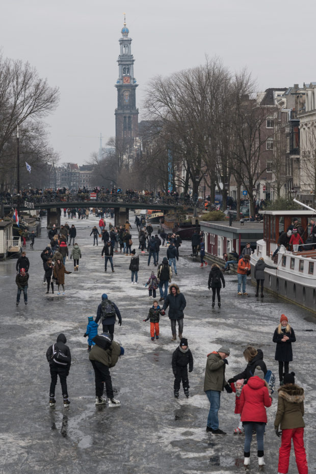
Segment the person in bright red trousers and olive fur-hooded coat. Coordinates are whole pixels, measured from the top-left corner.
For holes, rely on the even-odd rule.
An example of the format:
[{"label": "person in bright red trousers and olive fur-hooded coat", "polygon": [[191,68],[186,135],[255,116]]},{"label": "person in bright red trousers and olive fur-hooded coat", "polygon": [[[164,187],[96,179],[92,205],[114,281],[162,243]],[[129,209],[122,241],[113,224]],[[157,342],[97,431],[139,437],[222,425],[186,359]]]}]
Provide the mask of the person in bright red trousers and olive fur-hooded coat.
[{"label": "person in bright red trousers and olive fur-hooded coat", "polygon": [[[308,473],[304,448],[304,389],[296,385],[294,376],[294,372],[284,374],[284,385],[278,389],[278,408],[274,420],[276,435],[278,437],[282,435],[278,474],[287,474],[288,472],[292,439],[299,474]],[[282,431],[279,431],[279,425]]]}]

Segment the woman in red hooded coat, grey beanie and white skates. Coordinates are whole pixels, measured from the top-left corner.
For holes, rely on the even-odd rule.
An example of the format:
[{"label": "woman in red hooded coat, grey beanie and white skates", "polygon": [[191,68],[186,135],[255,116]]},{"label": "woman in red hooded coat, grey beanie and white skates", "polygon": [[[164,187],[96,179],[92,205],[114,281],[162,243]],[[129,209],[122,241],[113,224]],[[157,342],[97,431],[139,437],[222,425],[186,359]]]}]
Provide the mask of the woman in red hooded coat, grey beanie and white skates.
[{"label": "woman in red hooded coat, grey beanie and white skates", "polygon": [[244,464],[250,464],[250,444],[252,431],[256,431],[258,464],[263,466],[264,461],[264,434],[267,424],[265,407],[270,407],[272,398],[264,380],[264,373],[259,365],[255,368],[254,376],[250,377],[242,389],[240,397],[241,420],[245,430]]}]

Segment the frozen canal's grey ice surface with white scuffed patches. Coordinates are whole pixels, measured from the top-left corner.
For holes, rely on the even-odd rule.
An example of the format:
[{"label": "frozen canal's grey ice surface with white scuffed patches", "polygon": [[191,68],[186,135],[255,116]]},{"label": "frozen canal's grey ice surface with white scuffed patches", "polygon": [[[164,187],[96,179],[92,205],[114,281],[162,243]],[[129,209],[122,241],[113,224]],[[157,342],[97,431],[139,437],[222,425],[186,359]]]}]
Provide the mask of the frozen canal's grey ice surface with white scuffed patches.
[{"label": "frozen canal's grey ice surface with white scuffed patches", "polygon": [[[109,220],[106,219],[107,225]],[[62,218],[62,223],[66,222]],[[134,214],[133,248],[138,248]],[[69,221],[68,221],[69,223]],[[122,474],[241,472],[243,435],[233,435],[238,426],[234,414],[234,394],[222,395],[220,428],[227,436],[205,432],[209,404],[203,392],[206,356],[222,344],[230,347],[227,378],[246,365],[243,350],[247,345],[260,347],[265,362],[277,374],[272,342],[281,313],[287,315],[297,342],[293,344],[294,361],[290,370],[305,389],[305,446],[309,472],[316,472],[316,416],[313,390],[315,321],[311,313],[268,293],[264,299],[254,297],[248,282],[249,297],[237,296],[236,276],[226,277],[222,289],[222,307],[210,307],[207,289],[209,267],[200,269],[192,262],[190,243],[180,247],[178,275],[173,282],[187,299],[183,336],[189,339],[194,357],[190,374],[191,397],[173,397],[172,352],[168,317],[161,317],[159,340],[150,339],[149,322],[143,323],[150,307],[144,283],[153,264],[147,266],[147,254],[140,254],[139,284],[130,284],[130,258],[114,254],[115,273],[104,273],[102,245],[93,247],[89,234],[98,219],[74,220],[76,242],[83,257],[79,273],[65,276],[66,296],[48,299],[43,285],[41,251],[48,244],[47,231],[35,240],[34,250],[27,247],[30,258],[29,304],[22,298],[16,307],[16,260],[0,262],[1,282],[1,464],[5,474],[75,474],[117,472]],[[46,224],[46,221],[43,222]],[[155,228],[156,229],[156,228]],[[160,252],[160,261],[166,249]],[[66,269],[73,270],[72,260]],[[125,355],[111,369],[115,398],[119,408],[95,407],[94,374],[88,360],[87,339],[83,337],[87,317],[96,315],[101,294],[107,293],[119,307],[122,326],[115,326],[115,338],[125,348]],[[159,295],[158,295],[159,296]],[[69,409],[62,406],[61,387],[56,387],[56,408],[48,406],[50,375],[45,353],[57,335],[63,332],[72,354],[67,379]],[[99,333],[101,328],[99,328]],[[277,385],[278,386],[278,385]],[[276,474],[279,438],[273,429],[277,395],[267,409],[264,472]],[[256,444],[252,442],[250,472],[257,472]],[[297,472],[291,454],[289,473]]]}]

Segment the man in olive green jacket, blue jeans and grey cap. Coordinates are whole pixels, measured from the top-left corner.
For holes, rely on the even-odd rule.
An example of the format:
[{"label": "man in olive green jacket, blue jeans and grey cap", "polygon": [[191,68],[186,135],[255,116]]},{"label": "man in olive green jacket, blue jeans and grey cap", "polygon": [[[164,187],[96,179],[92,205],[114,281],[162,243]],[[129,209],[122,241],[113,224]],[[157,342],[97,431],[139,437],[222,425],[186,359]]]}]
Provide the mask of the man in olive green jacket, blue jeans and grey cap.
[{"label": "man in olive green jacket, blue jeans and grey cap", "polygon": [[221,391],[225,388],[228,393],[232,393],[230,385],[225,380],[225,366],[228,365],[227,357],[229,354],[229,348],[222,346],[218,351],[207,355],[204,392],[209,400],[210,407],[206,431],[214,434],[226,434],[219,429],[218,412],[221,406]]}]

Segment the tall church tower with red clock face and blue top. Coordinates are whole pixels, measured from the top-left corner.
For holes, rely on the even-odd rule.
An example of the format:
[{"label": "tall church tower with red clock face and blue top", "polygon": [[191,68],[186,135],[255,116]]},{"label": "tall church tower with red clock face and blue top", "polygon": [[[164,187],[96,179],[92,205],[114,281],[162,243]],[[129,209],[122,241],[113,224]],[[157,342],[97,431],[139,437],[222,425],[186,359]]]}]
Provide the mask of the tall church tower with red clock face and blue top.
[{"label": "tall church tower with red clock face and blue top", "polygon": [[125,14],[122,37],[119,39],[120,55],[118,57],[119,76],[116,81],[117,109],[115,110],[116,141],[126,147],[134,144],[138,137],[138,109],[136,108],[136,79],[134,77],[134,58],[131,54],[131,38],[128,38]]}]

